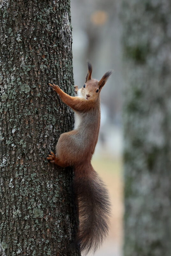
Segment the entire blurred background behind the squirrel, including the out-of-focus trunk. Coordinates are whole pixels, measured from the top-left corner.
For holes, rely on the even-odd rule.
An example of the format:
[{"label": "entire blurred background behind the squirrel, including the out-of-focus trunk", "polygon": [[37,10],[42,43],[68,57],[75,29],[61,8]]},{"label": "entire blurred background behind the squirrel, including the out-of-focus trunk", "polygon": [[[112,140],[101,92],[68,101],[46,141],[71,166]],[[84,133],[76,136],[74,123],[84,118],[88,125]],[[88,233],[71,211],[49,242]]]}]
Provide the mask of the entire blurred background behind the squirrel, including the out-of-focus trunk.
[{"label": "entire blurred background behind the squirrel, including the out-of-focus trunk", "polygon": [[93,157],[113,212],[96,256],[170,255],[170,13],[170,0],[71,1],[75,85],[85,82],[87,59],[93,78],[114,70]]}]

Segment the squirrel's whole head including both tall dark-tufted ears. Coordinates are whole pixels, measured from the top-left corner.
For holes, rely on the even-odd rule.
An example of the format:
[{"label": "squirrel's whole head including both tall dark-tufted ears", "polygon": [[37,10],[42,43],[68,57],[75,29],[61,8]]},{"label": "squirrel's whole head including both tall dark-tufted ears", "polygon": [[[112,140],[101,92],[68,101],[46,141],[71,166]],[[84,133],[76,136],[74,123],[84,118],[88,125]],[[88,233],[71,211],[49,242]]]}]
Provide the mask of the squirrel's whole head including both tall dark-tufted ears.
[{"label": "squirrel's whole head including both tall dark-tufted ears", "polygon": [[96,100],[99,97],[102,87],[108,80],[108,77],[112,74],[112,70],[106,72],[100,81],[97,79],[92,79],[92,65],[87,62],[88,72],[85,78],[85,84],[81,89],[78,90],[78,96],[83,97],[86,100]]}]

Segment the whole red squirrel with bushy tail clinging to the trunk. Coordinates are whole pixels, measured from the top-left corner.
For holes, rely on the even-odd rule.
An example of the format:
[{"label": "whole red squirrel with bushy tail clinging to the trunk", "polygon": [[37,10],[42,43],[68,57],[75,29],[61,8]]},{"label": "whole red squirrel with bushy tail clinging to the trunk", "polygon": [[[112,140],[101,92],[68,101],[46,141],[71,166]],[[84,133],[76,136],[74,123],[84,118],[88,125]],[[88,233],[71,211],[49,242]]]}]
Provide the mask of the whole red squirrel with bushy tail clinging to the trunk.
[{"label": "whole red squirrel with bushy tail clinging to the trunk", "polygon": [[71,97],[58,85],[50,84],[62,101],[80,118],[78,128],[61,134],[56,145],[56,155],[51,151],[47,159],[61,167],[74,169],[73,187],[78,200],[79,228],[75,245],[80,251],[94,252],[108,234],[110,202],[108,191],[91,165],[100,128],[100,91],[112,71],[100,81],[92,79],[92,65],[88,64],[85,84],[74,86],[76,97]]}]

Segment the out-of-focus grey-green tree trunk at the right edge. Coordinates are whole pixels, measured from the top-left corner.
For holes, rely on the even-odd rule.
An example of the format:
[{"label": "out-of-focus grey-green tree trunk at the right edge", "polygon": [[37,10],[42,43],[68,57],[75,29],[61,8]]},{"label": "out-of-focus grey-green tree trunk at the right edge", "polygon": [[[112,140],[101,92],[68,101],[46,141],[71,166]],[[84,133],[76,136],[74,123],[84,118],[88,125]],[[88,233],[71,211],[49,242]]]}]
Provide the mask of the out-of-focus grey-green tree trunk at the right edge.
[{"label": "out-of-focus grey-green tree trunk at the right edge", "polygon": [[123,1],[125,256],[171,252],[171,2]]}]

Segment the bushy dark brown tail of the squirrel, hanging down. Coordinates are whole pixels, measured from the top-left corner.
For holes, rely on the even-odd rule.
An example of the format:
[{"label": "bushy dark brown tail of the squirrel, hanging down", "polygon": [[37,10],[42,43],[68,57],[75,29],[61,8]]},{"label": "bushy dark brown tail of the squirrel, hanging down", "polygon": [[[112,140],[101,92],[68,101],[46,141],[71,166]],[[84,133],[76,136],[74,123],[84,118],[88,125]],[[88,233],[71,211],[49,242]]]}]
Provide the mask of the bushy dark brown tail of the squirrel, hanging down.
[{"label": "bushy dark brown tail of the squirrel, hanging down", "polygon": [[108,235],[108,191],[91,164],[75,169],[74,191],[79,211],[79,228],[75,243],[81,252],[95,252]]}]

